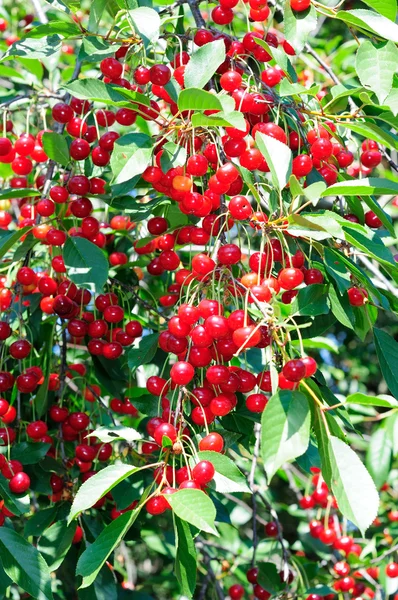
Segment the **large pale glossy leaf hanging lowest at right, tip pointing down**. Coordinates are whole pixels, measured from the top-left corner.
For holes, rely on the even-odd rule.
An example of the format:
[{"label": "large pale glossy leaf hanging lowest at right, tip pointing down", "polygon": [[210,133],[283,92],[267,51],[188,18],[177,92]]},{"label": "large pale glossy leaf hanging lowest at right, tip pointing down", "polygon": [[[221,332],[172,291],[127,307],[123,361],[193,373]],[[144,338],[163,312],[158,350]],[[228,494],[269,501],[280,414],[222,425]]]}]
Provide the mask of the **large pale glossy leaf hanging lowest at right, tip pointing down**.
[{"label": "large pale glossy leaf hanging lowest at right, tip pointing down", "polygon": [[375,484],[354,450],[333,435],[329,438],[329,455],[332,492],[339,510],[363,533],[377,516],[379,495]]}]

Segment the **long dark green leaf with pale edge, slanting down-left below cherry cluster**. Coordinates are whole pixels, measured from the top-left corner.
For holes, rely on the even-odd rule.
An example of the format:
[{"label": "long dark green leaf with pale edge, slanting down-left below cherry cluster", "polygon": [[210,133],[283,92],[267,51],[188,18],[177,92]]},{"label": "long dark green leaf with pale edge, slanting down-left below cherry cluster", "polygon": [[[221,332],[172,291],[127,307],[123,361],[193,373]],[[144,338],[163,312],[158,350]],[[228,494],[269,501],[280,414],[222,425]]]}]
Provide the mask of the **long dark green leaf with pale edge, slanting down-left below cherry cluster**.
[{"label": "long dark green leaf with pale edge, slanting down-left below cherry cluster", "polygon": [[81,554],[76,574],[83,577],[82,588],[93,583],[110,553],[120,544],[140,513],[140,507],[127,511],[107,525],[90,546]]}]

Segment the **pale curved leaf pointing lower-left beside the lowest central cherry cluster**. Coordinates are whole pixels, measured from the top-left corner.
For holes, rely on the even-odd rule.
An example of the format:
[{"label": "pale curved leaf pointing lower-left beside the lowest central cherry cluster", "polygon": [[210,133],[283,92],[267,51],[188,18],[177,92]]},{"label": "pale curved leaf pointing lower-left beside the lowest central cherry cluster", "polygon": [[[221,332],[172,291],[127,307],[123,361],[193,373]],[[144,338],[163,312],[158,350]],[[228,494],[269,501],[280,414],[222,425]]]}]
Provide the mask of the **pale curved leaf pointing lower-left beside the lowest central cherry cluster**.
[{"label": "pale curved leaf pointing lower-left beside the lowest central cherry cluster", "polygon": [[70,509],[68,523],[84,510],[95,504],[102,496],[105,496],[115,485],[139,471],[138,467],[132,467],[124,463],[115,463],[99,471],[90,477],[79,488]]}]

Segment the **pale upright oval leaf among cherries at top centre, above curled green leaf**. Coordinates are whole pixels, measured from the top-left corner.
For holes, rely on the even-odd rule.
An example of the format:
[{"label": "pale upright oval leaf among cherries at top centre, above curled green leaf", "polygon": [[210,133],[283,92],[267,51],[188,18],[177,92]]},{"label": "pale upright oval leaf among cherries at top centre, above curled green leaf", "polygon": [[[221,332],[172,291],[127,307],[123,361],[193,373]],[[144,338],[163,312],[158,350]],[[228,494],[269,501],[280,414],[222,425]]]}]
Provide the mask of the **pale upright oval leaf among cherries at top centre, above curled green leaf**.
[{"label": "pale upright oval leaf among cherries at top centre, above curled green leaf", "polygon": [[224,60],[225,44],[223,40],[215,40],[211,44],[201,46],[192,54],[191,60],[185,67],[185,87],[202,89]]}]

